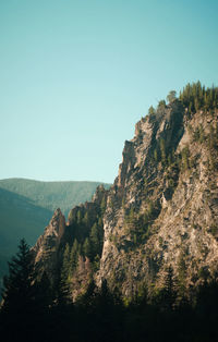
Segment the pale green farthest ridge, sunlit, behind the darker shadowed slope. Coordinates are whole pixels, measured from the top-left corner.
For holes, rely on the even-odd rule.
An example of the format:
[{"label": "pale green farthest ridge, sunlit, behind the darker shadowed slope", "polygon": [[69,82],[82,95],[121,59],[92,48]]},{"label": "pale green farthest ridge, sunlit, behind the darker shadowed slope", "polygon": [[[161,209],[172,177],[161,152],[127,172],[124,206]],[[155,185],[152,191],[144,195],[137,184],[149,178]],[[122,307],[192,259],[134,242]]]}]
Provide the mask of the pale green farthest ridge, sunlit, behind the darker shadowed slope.
[{"label": "pale green farthest ridge, sunlit, behind the darker shadowed slope", "polygon": [[[65,216],[72,207],[89,200],[100,182],[40,182],[25,179],[0,180],[4,188],[31,199],[36,206],[56,210],[61,208]],[[110,184],[105,184],[110,187]]]}]

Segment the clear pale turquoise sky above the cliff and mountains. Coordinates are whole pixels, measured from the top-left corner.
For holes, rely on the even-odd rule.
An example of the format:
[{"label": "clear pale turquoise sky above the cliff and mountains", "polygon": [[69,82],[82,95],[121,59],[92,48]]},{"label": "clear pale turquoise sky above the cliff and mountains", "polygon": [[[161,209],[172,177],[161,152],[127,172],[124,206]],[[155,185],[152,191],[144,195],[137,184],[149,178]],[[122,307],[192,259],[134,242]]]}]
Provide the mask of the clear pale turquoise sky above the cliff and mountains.
[{"label": "clear pale turquoise sky above the cliff and mountains", "polygon": [[113,182],[171,89],[218,84],[217,0],[0,0],[0,179]]}]

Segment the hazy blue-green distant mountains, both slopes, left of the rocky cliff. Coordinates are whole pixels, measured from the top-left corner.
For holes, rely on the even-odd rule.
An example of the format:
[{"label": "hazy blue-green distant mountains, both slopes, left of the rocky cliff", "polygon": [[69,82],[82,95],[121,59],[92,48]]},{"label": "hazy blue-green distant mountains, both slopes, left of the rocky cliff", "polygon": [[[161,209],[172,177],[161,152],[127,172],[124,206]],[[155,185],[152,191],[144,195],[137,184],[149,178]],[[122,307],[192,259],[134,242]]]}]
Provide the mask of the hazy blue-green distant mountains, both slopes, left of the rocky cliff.
[{"label": "hazy blue-green distant mountains, both slopes, left of the rocky cliff", "polygon": [[[34,245],[48,224],[52,212],[90,199],[99,182],[39,182],[25,179],[0,181],[0,279],[7,273],[7,261],[25,237]],[[105,184],[109,187],[109,184]]]}]

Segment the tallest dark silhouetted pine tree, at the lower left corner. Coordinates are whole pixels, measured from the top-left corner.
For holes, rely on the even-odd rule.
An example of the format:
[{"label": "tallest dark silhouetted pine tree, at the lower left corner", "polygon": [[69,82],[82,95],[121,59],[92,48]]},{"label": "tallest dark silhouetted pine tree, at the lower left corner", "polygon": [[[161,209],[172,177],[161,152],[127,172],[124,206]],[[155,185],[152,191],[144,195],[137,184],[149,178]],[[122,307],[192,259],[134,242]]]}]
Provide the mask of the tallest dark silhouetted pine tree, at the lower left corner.
[{"label": "tallest dark silhouetted pine tree, at the lower left corner", "polygon": [[21,240],[17,254],[9,262],[9,276],[3,279],[1,306],[1,337],[3,341],[19,341],[24,332],[27,340],[36,331],[40,316],[37,301],[36,274],[33,254],[25,240]]}]

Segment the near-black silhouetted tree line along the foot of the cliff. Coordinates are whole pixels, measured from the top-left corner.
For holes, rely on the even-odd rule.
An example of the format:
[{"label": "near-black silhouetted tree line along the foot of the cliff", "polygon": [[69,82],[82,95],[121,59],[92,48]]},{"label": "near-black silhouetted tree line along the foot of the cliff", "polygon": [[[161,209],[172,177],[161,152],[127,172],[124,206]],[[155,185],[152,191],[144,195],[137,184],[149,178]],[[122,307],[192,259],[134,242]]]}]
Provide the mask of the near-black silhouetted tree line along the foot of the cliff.
[{"label": "near-black silhouetted tree line along the foot of the cliff", "polygon": [[2,341],[217,341],[216,281],[205,279],[192,301],[180,294],[179,304],[171,268],[153,301],[145,288],[126,304],[119,290],[110,291],[106,280],[97,288],[90,280],[85,293],[69,301],[63,289],[53,291],[46,274],[38,280],[22,240],[4,278]]}]

